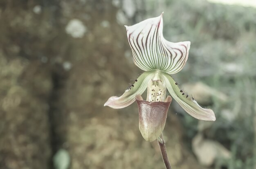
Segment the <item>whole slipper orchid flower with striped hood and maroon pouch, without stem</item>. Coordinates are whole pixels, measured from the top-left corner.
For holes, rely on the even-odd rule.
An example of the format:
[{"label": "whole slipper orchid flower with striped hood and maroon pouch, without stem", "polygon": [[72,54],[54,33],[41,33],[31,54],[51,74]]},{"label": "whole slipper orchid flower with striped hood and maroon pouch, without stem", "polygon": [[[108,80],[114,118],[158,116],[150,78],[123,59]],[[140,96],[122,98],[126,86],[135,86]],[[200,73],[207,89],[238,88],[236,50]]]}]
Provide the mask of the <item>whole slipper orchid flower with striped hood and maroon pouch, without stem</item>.
[{"label": "whole slipper orchid flower with striped hood and maroon pouch, without stem", "polygon": [[[162,13],[163,14],[163,13]],[[182,91],[171,77],[180,72],[189,56],[190,42],[169,42],[163,37],[162,14],[133,26],[125,26],[133,61],[145,70],[120,97],[110,97],[104,106],[125,108],[135,100],[139,109],[139,130],[147,141],[157,139],[164,129],[171,97],[166,88],[191,116],[204,121],[215,121],[213,110],[200,107],[193,97]],[[147,99],[141,94],[147,88]]]}]

